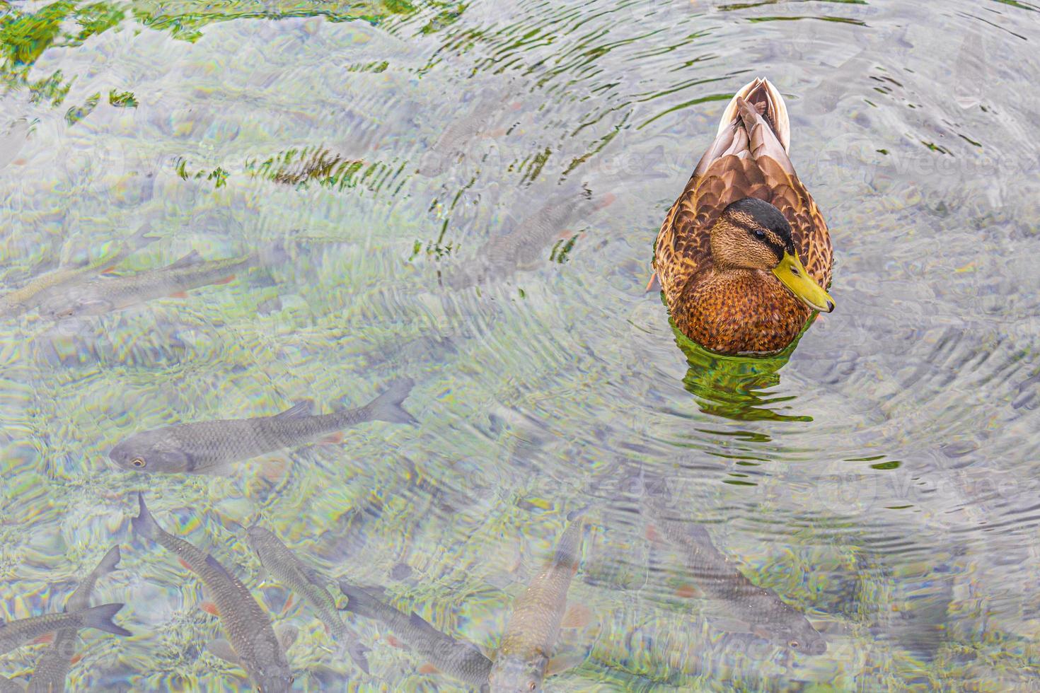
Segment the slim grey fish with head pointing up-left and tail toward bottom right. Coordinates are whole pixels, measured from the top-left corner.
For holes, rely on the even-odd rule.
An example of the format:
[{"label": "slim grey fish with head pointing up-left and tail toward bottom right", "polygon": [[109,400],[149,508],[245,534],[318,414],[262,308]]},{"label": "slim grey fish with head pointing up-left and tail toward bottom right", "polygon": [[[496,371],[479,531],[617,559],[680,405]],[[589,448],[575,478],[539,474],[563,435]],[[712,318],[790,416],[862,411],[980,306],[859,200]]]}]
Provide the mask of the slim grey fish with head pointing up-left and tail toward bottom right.
[{"label": "slim grey fish with head pointing up-left and tail toward bottom right", "polygon": [[336,601],[326,588],[329,581],[305,565],[270,530],[253,525],[245,530],[245,534],[261,565],[314,608],[317,617],[339,645],[339,651],[346,651],[354,663],[368,673],[368,659],[365,657],[368,648],[361,644],[358,634],[340,616]]}]

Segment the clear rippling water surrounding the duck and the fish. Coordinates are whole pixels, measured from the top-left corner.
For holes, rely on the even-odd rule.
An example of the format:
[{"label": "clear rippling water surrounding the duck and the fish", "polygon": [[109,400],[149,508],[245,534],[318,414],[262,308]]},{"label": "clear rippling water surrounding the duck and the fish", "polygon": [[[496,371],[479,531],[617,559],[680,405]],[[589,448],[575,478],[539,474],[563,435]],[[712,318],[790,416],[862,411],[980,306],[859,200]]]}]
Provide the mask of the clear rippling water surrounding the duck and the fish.
[{"label": "clear rippling water surrounding the duck and the fish", "polygon": [[[584,659],[547,690],[1036,686],[1038,9],[0,4],[3,293],[146,219],[161,239],[123,271],[288,248],[187,298],[0,321],[3,616],[60,610],[119,543],[95,602],[125,602],[136,635],[84,632],[70,688],[248,690],[204,651],[219,624],[197,579],[132,537],[146,490],[301,629],[300,690],[456,690],[360,618],[371,675],[335,658],[261,586],[238,525],[493,652],[589,505],[570,595],[592,621],[562,636]],[[680,348],[643,293],[662,215],[757,75],[787,100],[836,252],[837,311],[770,361]],[[138,430],[328,411],[397,376],[417,427],[228,478],[107,461]],[[639,464],[827,654],[707,616],[680,555],[646,539]],[[42,648],[0,673],[24,682]]]}]

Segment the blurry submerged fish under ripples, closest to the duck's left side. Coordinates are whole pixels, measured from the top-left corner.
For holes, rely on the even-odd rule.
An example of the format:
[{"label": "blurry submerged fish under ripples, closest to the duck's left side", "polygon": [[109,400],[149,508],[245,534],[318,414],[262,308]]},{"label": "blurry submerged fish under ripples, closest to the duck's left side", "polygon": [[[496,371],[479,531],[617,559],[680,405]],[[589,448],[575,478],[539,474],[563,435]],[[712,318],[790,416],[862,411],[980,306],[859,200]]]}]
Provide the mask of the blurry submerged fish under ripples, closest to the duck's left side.
[{"label": "blurry submerged fish under ripples, closest to the duck's left side", "polygon": [[[571,189],[550,197],[542,207],[527,215],[510,233],[495,236],[476,250],[470,266],[449,272],[445,284],[451,289],[465,289],[486,282],[508,278],[517,271],[538,269],[549,260],[546,248],[554,241],[568,237],[567,225],[583,220],[613,203],[613,194],[598,199],[588,192]],[[563,244],[557,259],[566,257],[568,244]],[[556,257],[556,252],[552,254]]]}]

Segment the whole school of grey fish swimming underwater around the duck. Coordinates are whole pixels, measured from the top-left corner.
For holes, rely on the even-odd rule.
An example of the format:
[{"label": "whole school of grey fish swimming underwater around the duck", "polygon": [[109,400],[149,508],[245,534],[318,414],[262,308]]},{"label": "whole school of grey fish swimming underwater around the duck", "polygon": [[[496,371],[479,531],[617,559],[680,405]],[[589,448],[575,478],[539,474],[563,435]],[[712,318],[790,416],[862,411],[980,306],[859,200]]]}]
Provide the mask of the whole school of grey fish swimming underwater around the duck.
[{"label": "whole school of grey fish swimming underwater around the duck", "polygon": [[[419,172],[423,176],[442,172],[491,124],[500,124],[505,113],[501,97],[494,92],[477,98],[470,112],[447,127],[433,143]],[[19,122],[11,130],[10,149],[15,154],[28,131],[26,122]],[[0,166],[12,156],[7,160],[0,157]],[[464,289],[535,269],[546,260],[562,261],[581,231],[582,221],[612,202],[613,195],[596,195],[583,185],[571,185],[521,218],[510,233],[493,236],[478,248],[473,266],[450,273],[445,284],[456,290]],[[0,296],[0,319],[31,320],[35,316],[48,322],[61,322],[127,311],[163,298],[185,299],[189,298],[187,292],[227,284],[238,275],[285,259],[284,247],[274,244],[217,260],[205,260],[198,250],[192,250],[155,269],[120,270],[125,260],[156,240],[151,223],[146,222],[109,252],[37,274]],[[279,310],[281,302],[276,298],[264,305]],[[141,475],[182,475],[185,479],[230,475],[239,464],[268,453],[338,443],[341,432],[354,426],[371,422],[418,425],[418,419],[404,406],[414,385],[412,378],[399,378],[387,383],[366,404],[355,408],[336,405],[328,414],[315,414],[312,401],[300,400],[280,414],[222,419],[214,412],[213,418],[139,430],[114,442],[108,458],[115,469]],[[242,412],[220,414],[242,416]],[[827,651],[826,639],[800,608],[749,580],[714,545],[705,528],[675,516],[672,510],[675,499],[665,480],[649,479],[646,490],[642,512],[652,528],[649,541],[654,545],[668,543],[681,556],[682,569],[705,596],[705,610],[713,607],[727,621],[738,622],[743,630],[778,647],[808,656]],[[160,494],[151,492],[150,497],[162,509],[163,516],[177,510]],[[295,646],[300,630],[281,614],[274,613],[260,593],[260,584],[246,584],[237,577],[248,575],[241,557],[225,548],[217,551],[218,558],[177,533],[167,532],[146,504],[145,490],[134,498],[135,512],[127,508],[128,524],[136,538],[133,551],[140,552],[134,556],[134,564],[141,558],[168,561],[168,554],[190,572],[186,580],[197,581],[205,596],[200,608],[218,620],[225,636],[205,643],[205,652],[242,672],[262,693],[293,690],[295,676],[289,650]],[[561,640],[571,586],[581,568],[583,535],[591,529],[584,513],[582,509],[568,516],[544,567],[525,588],[518,590],[508,614],[503,612],[504,629],[479,643],[467,640],[463,633],[435,628],[417,611],[423,608],[421,605],[394,606],[408,597],[394,595],[392,589],[385,587],[359,584],[352,577],[349,565],[334,566],[331,570],[329,566],[321,567],[308,555],[305,545],[293,548],[268,529],[275,526],[271,518],[252,517],[250,524],[237,527],[241,530],[238,540],[253,550],[254,558],[248,560],[255,560],[261,567],[263,584],[271,582],[302,601],[306,611],[297,618],[315,618],[323,627],[332,664],[350,672],[337,674],[337,686],[348,684],[358,675],[356,672],[363,676],[379,672],[385,651],[373,634],[385,631],[388,635],[384,640],[410,651],[418,672],[448,677],[479,691],[520,693],[543,690],[548,676],[581,662],[580,658],[569,660],[558,655],[563,649]],[[178,527],[183,525],[182,521],[181,516]],[[230,525],[235,523],[232,521]],[[27,684],[18,676],[0,676],[0,693],[66,690],[79,650],[88,649],[102,637],[86,637],[84,631],[120,637],[148,635],[131,633],[113,620],[123,604],[90,606],[97,584],[112,582],[108,576],[123,572],[120,564],[126,550],[125,544],[113,545],[100,558],[95,556],[96,566],[80,580],[62,611],[19,614],[19,618],[0,621],[0,654],[45,640],[49,643],[38,655]],[[391,571],[390,578],[396,580],[396,575],[412,572],[409,566],[404,567],[406,570]],[[338,586],[338,594],[330,591],[330,584]],[[132,620],[131,617],[127,622]],[[319,671],[328,673],[332,669],[323,667]]]}]

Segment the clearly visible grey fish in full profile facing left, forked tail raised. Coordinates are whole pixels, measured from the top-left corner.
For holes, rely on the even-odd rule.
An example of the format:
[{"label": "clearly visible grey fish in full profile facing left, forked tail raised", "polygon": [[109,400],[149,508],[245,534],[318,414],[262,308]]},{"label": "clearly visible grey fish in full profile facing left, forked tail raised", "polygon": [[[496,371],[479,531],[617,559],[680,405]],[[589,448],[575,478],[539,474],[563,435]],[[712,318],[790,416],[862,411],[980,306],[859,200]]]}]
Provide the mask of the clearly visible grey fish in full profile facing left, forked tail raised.
[{"label": "clearly visible grey fish in full profile facing left, forked tail raised", "polygon": [[297,402],[271,417],[200,421],[134,433],[108,453],[121,469],[154,474],[225,474],[229,465],[316,441],[367,421],[416,423],[401,406],[414,384],[395,380],[365,406],[333,414],[311,414],[313,403]]}]

